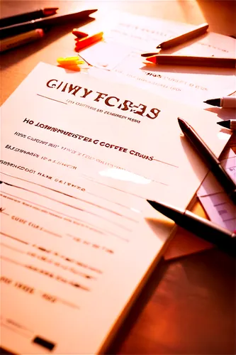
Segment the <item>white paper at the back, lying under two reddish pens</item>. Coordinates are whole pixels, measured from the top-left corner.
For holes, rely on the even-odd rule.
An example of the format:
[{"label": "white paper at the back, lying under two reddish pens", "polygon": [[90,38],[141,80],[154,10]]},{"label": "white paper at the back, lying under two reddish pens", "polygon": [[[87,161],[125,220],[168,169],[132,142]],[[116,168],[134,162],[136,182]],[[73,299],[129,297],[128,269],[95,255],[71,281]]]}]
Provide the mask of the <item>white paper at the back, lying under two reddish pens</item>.
[{"label": "white paper at the back, lying under two reddish pens", "polygon": [[[203,108],[209,107],[203,104],[206,99],[235,91],[235,69],[144,64],[142,53],[158,52],[159,43],[195,26],[130,13],[116,12],[114,16],[109,13],[107,17],[110,23],[104,31],[104,40],[82,50],[79,55],[91,65],[113,72],[116,80],[125,80],[164,97]],[[226,58],[235,58],[235,52],[234,38],[212,33],[210,29],[188,43],[162,50],[163,54]]]}]

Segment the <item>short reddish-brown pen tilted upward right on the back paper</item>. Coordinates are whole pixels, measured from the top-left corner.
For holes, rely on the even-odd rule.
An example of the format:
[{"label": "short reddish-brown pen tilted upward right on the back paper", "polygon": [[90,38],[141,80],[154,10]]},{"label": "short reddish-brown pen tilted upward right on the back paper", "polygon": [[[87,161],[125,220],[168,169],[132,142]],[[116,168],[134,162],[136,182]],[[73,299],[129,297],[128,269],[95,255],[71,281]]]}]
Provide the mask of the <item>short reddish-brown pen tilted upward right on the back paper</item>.
[{"label": "short reddish-brown pen tilted upward right on the back paper", "polygon": [[203,35],[208,30],[208,23],[202,23],[198,27],[194,28],[192,31],[184,33],[182,35],[177,35],[176,37],[170,38],[169,40],[165,40],[164,42],[157,45],[158,49],[167,49],[175,47],[176,45],[181,45],[185,43],[187,40],[191,40],[193,38],[198,37],[199,35]]}]

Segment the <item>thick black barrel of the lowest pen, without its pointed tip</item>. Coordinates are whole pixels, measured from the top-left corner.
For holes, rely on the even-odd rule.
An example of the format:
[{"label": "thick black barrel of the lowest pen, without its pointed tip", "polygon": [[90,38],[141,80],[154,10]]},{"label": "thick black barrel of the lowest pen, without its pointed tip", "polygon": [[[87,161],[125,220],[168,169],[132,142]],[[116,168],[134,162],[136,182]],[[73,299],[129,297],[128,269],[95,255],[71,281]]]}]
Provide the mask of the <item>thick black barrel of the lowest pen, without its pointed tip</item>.
[{"label": "thick black barrel of the lowest pen, without its pointed tip", "polygon": [[236,236],[227,229],[189,211],[186,211],[184,217],[180,218],[180,221],[176,221],[176,223],[202,239],[215,244],[215,246],[230,253],[230,255],[236,256]]}]

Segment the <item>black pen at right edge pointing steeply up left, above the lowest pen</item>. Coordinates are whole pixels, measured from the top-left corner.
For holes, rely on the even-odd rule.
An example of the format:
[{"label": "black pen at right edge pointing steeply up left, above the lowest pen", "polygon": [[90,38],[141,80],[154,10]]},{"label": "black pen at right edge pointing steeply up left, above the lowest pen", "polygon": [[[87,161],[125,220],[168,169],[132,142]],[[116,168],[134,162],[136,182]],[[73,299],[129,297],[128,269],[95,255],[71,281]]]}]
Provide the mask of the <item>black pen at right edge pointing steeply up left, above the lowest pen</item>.
[{"label": "black pen at right edge pointing steeply up left, above the lowest pen", "polygon": [[189,139],[191,144],[196,151],[198,151],[201,158],[205,161],[210,171],[213,173],[215,178],[220,182],[220,185],[224,188],[227,195],[230,197],[232,202],[236,204],[236,183],[230,178],[230,175],[227,174],[223,166],[220,164],[220,160],[210,151],[210,148],[203,142],[198,133],[194,131],[194,129],[187,124],[184,119],[178,117],[179,126],[184,133],[184,136]]}]

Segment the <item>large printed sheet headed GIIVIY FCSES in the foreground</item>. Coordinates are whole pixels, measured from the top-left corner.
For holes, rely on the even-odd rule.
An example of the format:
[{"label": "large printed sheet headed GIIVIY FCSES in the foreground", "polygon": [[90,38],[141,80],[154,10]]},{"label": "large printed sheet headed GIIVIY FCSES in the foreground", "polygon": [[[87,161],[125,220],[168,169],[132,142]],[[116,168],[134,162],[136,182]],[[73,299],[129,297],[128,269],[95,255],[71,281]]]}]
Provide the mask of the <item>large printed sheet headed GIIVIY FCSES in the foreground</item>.
[{"label": "large printed sheet headed GIIVIY FCSES in the foreground", "polygon": [[[215,116],[40,63],[1,107],[1,346],[96,354],[205,177],[186,119],[216,155]],[[158,222],[161,219],[161,222]]]}]

